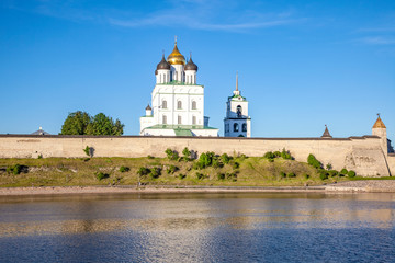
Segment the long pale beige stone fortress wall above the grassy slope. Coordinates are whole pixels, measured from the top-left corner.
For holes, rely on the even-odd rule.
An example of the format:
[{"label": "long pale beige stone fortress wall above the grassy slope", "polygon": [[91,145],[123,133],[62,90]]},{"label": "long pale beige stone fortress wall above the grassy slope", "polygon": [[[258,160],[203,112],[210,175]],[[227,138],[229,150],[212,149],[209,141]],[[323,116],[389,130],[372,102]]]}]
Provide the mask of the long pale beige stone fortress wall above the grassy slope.
[{"label": "long pale beige stone fortress wall above the grassy slope", "polygon": [[184,147],[198,153],[263,156],[267,151],[290,150],[297,161],[306,162],[313,153],[334,169],[354,170],[360,175],[387,176],[388,169],[381,150],[380,138],[217,138],[217,137],[87,137],[87,136],[0,136],[0,158],[86,157],[83,148],[94,148],[95,157],[165,157],[171,148]]}]

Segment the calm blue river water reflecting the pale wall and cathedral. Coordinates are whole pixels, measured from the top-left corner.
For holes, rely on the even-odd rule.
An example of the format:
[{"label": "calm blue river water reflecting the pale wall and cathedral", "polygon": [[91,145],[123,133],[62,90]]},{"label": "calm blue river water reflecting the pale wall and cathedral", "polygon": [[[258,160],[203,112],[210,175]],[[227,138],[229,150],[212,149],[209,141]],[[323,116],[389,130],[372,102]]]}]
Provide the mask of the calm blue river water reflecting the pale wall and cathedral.
[{"label": "calm blue river water reflecting the pale wall and cathedral", "polygon": [[0,197],[0,262],[395,262],[395,194]]}]

